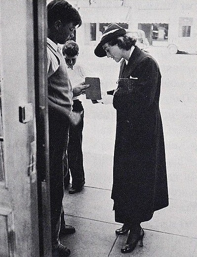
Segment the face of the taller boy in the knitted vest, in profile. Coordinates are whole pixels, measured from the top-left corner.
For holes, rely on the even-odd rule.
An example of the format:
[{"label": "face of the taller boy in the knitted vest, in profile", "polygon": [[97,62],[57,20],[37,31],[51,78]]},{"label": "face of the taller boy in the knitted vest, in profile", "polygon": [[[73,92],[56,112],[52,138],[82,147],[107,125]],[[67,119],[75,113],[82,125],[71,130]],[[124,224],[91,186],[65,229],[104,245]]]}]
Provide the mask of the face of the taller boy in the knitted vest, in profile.
[{"label": "face of the taller boy in the knitted vest, in profile", "polygon": [[76,28],[77,26],[74,26],[73,22],[67,24],[61,23],[57,28],[58,43],[65,44],[68,40],[72,39],[74,37],[74,31]]}]

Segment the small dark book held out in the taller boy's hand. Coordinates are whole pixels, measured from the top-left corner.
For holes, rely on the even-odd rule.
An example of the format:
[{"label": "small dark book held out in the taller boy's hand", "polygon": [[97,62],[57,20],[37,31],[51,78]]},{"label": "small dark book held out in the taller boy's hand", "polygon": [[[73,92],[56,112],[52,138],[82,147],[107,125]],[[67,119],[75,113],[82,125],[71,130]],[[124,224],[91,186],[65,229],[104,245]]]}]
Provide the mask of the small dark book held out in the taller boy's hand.
[{"label": "small dark book held out in the taller boy's hand", "polygon": [[86,77],[85,84],[90,87],[85,89],[86,99],[100,100],[101,98],[101,84],[99,78]]}]

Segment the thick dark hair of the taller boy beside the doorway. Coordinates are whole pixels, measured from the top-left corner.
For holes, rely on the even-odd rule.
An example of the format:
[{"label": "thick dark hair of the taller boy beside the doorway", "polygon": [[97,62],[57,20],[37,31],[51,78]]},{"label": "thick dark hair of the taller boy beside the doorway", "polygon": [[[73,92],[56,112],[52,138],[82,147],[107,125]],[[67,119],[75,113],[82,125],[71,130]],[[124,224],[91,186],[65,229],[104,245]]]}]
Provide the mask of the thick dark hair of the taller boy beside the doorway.
[{"label": "thick dark hair of the taller boy beside the doorway", "polygon": [[64,24],[73,22],[74,26],[81,25],[79,12],[65,0],[53,0],[48,3],[47,19],[48,27],[51,27],[57,20]]}]

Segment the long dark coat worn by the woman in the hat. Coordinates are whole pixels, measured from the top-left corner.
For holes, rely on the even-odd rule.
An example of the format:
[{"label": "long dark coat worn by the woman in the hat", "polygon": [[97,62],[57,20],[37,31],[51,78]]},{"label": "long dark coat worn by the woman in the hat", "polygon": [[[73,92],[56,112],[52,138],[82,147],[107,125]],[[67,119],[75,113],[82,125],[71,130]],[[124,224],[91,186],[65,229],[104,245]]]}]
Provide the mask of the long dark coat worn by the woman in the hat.
[{"label": "long dark coat worn by the woman in the hat", "polygon": [[147,221],[154,211],[168,206],[163,129],[159,112],[161,75],[155,59],[137,46],[114,94],[117,131],[114,154],[115,220]]}]

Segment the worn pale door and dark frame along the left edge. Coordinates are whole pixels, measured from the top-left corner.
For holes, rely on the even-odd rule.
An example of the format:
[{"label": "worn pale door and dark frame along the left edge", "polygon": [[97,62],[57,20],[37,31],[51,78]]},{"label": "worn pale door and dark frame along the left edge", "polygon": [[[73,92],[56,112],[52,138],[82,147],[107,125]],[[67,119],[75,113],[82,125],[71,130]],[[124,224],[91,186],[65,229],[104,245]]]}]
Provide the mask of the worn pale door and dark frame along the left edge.
[{"label": "worn pale door and dark frame along the left edge", "polygon": [[0,1],[1,257],[51,257],[45,42],[45,0]]}]

